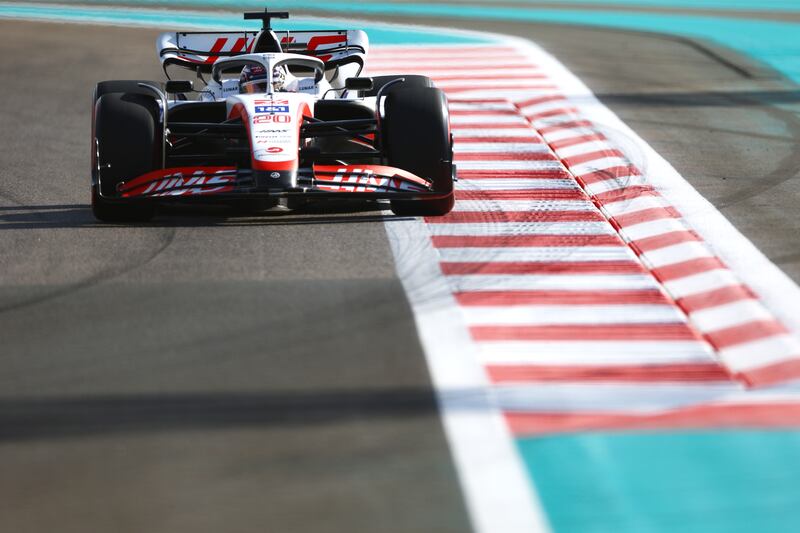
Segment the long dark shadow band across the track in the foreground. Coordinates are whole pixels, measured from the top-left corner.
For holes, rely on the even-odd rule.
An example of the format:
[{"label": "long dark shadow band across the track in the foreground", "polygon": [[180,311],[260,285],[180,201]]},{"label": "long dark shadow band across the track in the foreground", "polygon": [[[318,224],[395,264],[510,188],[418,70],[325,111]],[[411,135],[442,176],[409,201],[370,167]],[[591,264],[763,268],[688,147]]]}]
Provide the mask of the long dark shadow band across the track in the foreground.
[{"label": "long dark shadow band across the track in the foreground", "polygon": [[[454,391],[448,403],[485,406],[485,392]],[[302,426],[347,420],[427,416],[427,388],[243,394],[54,397],[0,401],[0,442],[88,435],[255,426]]]}]

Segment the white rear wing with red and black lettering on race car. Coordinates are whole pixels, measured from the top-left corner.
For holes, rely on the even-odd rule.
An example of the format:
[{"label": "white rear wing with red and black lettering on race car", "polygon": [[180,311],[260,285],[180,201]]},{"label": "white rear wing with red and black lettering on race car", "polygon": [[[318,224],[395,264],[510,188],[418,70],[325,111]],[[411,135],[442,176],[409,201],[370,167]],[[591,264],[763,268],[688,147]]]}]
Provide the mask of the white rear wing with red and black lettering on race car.
[{"label": "white rear wing with red and black lettering on race car", "polygon": [[[214,61],[253,53],[260,31],[170,32],[158,36],[156,46],[161,66],[200,69],[211,72]],[[360,63],[369,50],[367,34],[361,30],[275,31],[284,52],[305,54],[321,59],[326,68],[345,63]],[[169,75],[167,75],[169,77]]]}]

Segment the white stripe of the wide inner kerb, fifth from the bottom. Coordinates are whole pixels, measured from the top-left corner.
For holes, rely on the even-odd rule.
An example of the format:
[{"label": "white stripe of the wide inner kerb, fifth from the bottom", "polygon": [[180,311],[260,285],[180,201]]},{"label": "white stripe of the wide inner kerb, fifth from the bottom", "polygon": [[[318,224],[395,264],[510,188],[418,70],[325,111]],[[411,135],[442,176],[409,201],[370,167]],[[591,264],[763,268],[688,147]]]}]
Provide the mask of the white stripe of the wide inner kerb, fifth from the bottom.
[{"label": "white stripe of the wide inner kerb, fifth from the bottom", "polygon": [[[440,248],[442,261],[504,263],[564,262],[564,261],[627,261],[635,257],[633,252],[620,246],[541,246],[503,248]],[[559,276],[562,277],[562,276]],[[581,276],[585,278],[586,276]],[[516,279],[516,277],[511,277]]]}]

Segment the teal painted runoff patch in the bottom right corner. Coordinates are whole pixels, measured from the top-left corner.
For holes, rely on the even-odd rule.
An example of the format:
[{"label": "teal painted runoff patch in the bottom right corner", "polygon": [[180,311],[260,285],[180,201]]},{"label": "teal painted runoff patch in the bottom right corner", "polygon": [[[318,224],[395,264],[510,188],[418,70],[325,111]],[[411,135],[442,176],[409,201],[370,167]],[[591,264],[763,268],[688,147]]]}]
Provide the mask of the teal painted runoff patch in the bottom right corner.
[{"label": "teal painted runoff patch in the bottom right corner", "polygon": [[800,531],[800,431],[518,441],[555,533]]}]

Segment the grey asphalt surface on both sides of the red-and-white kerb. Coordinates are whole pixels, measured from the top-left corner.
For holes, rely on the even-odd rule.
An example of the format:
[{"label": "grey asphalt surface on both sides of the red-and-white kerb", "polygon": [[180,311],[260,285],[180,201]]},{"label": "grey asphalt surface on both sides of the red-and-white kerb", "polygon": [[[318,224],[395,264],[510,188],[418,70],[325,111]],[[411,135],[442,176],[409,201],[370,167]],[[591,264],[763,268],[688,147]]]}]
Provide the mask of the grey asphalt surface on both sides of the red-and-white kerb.
[{"label": "grey asphalt surface on both sides of the red-and-white kerb", "polygon": [[[795,87],[657,35],[458,25],[554,53],[800,280]],[[4,528],[467,530],[379,212],[93,220],[91,88],[160,79],[156,33],[0,22]]]}]

